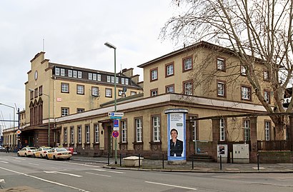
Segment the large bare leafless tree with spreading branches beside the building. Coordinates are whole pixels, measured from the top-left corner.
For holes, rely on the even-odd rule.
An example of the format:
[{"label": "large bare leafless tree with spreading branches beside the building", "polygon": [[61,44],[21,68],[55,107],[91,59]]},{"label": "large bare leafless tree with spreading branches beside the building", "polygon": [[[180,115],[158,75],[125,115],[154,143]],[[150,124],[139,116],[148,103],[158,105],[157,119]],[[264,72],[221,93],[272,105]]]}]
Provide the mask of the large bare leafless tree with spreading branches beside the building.
[{"label": "large bare leafless tree with spreading branches beside the building", "polygon": [[[254,94],[275,126],[275,139],[284,139],[293,99],[283,106],[284,92],[292,84],[292,4],[289,0],[174,0],[182,13],[164,25],[163,39],[191,44],[209,41],[233,51],[244,66]],[[274,108],[264,99],[262,76],[257,65],[269,73]]]}]

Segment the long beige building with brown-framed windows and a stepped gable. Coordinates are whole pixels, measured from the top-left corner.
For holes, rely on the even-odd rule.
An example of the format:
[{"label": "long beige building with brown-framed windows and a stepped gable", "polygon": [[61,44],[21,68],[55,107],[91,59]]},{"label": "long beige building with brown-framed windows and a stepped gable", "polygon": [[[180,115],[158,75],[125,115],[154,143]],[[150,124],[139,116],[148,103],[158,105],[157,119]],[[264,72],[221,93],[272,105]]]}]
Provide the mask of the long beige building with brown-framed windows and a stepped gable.
[{"label": "long beige building with brown-framed windows and a stepped gable", "polygon": [[[166,154],[169,133],[164,111],[169,108],[188,110],[187,155],[194,153],[195,141],[214,141],[212,118],[190,119],[217,116],[219,141],[249,141],[252,121],[242,114],[261,114],[257,117],[257,140],[274,138],[272,121],[264,116],[266,111],[254,96],[241,63],[228,51],[219,54],[201,42],[139,67],[144,69],[143,84],[132,69],[117,74],[117,111],[124,112],[119,121],[119,153]],[[261,65],[255,71],[265,76]],[[265,80],[262,84],[267,84]],[[52,145],[73,147],[92,156],[113,153],[113,121],[108,113],[114,111],[114,74],[53,64],[41,52],[31,60],[25,85],[23,145],[45,145],[49,119]],[[125,97],[119,94],[124,87]],[[93,95],[93,88],[99,94]],[[263,91],[267,91],[267,102],[273,103],[271,90]]]}]

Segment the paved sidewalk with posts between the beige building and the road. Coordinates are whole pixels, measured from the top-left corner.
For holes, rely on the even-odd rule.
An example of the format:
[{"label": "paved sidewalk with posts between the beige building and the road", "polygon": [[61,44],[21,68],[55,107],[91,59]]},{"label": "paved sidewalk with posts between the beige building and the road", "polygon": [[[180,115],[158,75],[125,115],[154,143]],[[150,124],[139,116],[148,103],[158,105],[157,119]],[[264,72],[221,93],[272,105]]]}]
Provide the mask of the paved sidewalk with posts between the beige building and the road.
[{"label": "paved sidewalk with posts between the beige building and the road", "polygon": [[194,161],[192,169],[192,161],[187,161],[184,165],[168,165],[167,161],[164,161],[164,168],[162,160],[150,160],[143,159],[142,166],[138,167],[125,167],[123,159],[118,158],[117,164],[115,165],[114,158],[106,157],[86,157],[86,156],[72,156],[71,160],[74,161],[87,161],[105,163],[104,168],[116,168],[116,169],[129,169],[139,171],[180,171],[180,172],[201,172],[201,173],[293,173],[293,163],[220,163],[214,162],[202,162]]}]

